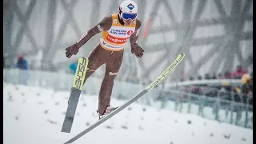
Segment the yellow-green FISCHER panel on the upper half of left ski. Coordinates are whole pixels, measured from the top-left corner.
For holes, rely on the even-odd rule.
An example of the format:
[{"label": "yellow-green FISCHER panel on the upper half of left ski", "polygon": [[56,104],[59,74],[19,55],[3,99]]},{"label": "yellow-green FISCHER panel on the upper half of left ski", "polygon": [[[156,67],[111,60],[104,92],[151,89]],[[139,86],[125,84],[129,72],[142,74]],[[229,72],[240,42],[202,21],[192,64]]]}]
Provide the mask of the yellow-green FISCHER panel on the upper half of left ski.
[{"label": "yellow-green FISCHER panel on the upper half of left ski", "polygon": [[82,90],[85,74],[86,74],[86,59],[82,58],[82,60],[78,62],[77,73],[75,75],[74,85],[73,85],[74,88],[78,90]]}]

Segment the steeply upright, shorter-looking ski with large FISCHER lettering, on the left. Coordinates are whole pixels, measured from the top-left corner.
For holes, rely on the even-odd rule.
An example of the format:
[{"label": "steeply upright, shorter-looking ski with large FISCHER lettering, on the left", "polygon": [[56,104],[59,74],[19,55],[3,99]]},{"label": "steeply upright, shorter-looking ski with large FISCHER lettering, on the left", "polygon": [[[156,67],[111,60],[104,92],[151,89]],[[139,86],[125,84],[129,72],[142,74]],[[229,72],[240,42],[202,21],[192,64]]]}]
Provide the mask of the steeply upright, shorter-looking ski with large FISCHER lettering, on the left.
[{"label": "steeply upright, shorter-looking ski with large FISCHER lettering, on the left", "polygon": [[74,74],[74,82],[70,90],[68,107],[66,110],[64,122],[62,124],[62,132],[70,133],[74,121],[75,110],[77,109],[78,100],[81,94],[84,79],[86,77],[88,62],[88,58],[78,58],[78,66]]}]

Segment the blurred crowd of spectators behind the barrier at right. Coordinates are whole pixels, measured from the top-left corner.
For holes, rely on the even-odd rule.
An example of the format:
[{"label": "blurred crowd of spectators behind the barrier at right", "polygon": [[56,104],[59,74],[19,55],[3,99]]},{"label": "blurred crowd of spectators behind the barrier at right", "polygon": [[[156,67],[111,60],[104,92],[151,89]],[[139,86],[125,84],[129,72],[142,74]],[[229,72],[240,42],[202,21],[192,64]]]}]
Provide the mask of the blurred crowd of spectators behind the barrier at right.
[{"label": "blurred crowd of spectators behind the barrier at right", "polygon": [[[251,74],[249,74],[249,71]],[[202,78],[198,78],[198,80],[200,79]],[[213,98],[219,96],[222,99],[253,105],[253,74],[251,70],[243,68],[242,66],[237,66],[237,69],[234,72],[226,71],[224,74],[218,74],[217,76],[215,74],[212,76],[206,74],[204,79],[238,79],[241,83],[238,86],[227,84],[222,84],[220,86],[181,86],[180,90],[192,94],[203,94]],[[194,78],[190,78],[190,81],[193,80]]]}]

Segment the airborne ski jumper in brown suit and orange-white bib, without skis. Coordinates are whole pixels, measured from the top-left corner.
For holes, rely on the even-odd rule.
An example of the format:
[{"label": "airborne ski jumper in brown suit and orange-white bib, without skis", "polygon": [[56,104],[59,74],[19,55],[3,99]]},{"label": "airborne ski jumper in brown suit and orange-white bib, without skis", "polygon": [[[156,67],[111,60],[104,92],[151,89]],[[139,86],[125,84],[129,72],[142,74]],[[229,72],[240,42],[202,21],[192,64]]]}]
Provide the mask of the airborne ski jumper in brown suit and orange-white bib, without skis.
[{"label": "airborne ski jumper in brown suit and orange-white bib, without skis", "polygon": [[142,58],[144,50],[138,46],[138,32],[141,21],[137,19],[138,6],[135,2],[126,0],[119,6],[119,13],[103,18],[96,26],[87,31],[83,38],[66,48],[66,57],[78,54],[78,50],[95,34],[102,32],[98,46],[89,56],[86,79],[106,64],[106,72],[98,96],[98,116],[104,117],[117,107],[110,106],[110,97],[114,86],[114,78],[122,64],[124,46],[130,38],[131,53]]}]

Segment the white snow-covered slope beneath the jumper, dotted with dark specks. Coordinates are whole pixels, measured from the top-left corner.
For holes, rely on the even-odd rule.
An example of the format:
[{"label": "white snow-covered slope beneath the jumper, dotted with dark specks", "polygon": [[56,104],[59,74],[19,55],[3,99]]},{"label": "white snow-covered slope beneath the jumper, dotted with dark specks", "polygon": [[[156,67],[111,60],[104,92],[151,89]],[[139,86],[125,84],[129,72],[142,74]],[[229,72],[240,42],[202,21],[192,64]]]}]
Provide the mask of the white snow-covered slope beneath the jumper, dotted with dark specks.
[{"label": "white snow-covered slope beneath the jumper, dotted with dark specks", "polygon": [[[3,143],[62,144],[98,120],[98,97],[82,95],[70,134],[62,133],[69,91],[3,87]],[[111,105],[120,106],[112,99]],[[253,130],[131,104],[74,144],[251,144]]]}]

